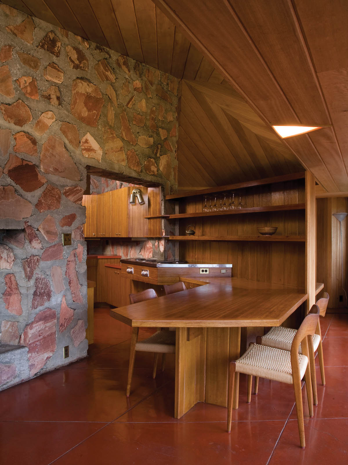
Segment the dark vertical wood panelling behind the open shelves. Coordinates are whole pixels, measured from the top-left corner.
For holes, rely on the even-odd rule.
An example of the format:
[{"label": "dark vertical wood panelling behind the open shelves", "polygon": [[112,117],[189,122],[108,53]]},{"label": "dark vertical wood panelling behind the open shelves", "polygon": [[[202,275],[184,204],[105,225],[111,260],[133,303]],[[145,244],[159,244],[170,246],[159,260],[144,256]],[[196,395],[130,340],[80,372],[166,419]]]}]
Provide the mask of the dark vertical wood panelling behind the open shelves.
[{"label": "dark vertical wood panelling behind the open shelves", "polygon": [[[304,180],[257,186],[238,191],[238,196],[236,194],[236,203],[240,196],[245,207],[302,203],[305,201]],[[204,197],[188,198],[181,202],[180,213],[199,212],[203,206]],[[295,210],[181,219],[180,235],[184,235],[189,224],[196,226],[197,235],[257,235],[258,226],[277,226],[277,234],[281,235],[302,235],[305,234],[305,212]],[[202,263],[231,263],[232,275],[237,278],[305,285],[304,242],[183,241],[180,242],[180,258]]]}]

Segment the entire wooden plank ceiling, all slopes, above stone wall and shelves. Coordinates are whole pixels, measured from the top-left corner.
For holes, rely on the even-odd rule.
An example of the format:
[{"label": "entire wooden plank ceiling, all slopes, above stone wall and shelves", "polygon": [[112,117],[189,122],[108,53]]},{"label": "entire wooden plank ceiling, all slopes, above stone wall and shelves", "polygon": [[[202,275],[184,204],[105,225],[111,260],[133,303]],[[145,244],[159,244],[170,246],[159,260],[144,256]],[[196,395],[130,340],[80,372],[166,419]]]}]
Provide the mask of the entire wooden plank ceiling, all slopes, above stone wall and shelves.
[{"label": "entire wooden plank ceiling, all slopes, above stone wall and shelves", "polygon": [[[4,3],[184,80],[181,187],[297,172],[300,160],[324,195],[348,195],[347,2]],[[283,141],[271,124],[329,127]]]}]

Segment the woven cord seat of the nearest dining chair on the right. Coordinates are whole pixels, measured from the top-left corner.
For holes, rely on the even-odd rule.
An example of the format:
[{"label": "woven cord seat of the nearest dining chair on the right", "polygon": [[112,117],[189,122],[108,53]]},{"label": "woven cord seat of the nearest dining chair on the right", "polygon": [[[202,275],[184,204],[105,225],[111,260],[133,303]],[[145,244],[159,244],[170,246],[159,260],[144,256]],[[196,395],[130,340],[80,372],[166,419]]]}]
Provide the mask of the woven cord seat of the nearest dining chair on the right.
[{"label": "woven cord seat of the nearest dining chair on the right", "polygon": [[[302,379],[308,358],[302,354],[298,354],[298,358]],[[250,344],[242,357],[236,360],[236,372],[293,384],[290,352],[267,345]]]}]

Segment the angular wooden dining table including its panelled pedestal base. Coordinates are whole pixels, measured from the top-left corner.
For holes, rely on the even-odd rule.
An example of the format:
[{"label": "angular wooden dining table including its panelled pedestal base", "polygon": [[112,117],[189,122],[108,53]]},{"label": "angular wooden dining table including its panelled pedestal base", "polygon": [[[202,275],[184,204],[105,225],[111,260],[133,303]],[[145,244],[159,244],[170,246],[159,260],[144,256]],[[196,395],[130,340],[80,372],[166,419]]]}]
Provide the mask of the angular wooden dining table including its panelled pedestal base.
[{"label": "angular wooden dining table including its panelled pedestal base", "polygon": [[[200,286],[110,311],[132,327],[176,328],[175,418],[197,402],[227,406],[228,366],[240,356],[241,328],[280,326],[308,297],[304,289],[247,279],[180,279]],[[322,288],[318,283],[316,293]]]}]

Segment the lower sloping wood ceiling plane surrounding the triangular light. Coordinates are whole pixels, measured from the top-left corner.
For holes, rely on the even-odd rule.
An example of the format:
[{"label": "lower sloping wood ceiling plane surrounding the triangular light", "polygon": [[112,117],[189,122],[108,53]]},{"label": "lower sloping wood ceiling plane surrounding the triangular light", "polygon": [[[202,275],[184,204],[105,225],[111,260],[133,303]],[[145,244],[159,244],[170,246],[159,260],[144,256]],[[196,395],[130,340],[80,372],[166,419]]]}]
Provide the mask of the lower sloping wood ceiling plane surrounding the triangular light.
[{"label": "lower sloping wood ceiling plane surrounding the triangular light", "polygon": [[266,125],[332,126],[283,143],[328,192],[348,191],[346,1],[153,1]]}]

